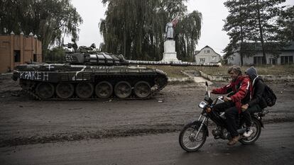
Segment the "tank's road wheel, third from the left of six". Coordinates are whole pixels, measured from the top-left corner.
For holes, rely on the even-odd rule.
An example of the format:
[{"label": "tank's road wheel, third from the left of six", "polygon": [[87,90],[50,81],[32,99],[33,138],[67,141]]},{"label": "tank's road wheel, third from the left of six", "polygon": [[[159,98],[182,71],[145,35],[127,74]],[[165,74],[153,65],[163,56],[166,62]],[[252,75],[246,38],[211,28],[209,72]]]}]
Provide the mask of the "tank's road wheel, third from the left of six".
[{"label": "tank's road wheel, third from the left of six", "polygon": [[75,93],[79,98],[89,98],[94,92],[94,87],[91,83],[79,83],[75,87]]}]

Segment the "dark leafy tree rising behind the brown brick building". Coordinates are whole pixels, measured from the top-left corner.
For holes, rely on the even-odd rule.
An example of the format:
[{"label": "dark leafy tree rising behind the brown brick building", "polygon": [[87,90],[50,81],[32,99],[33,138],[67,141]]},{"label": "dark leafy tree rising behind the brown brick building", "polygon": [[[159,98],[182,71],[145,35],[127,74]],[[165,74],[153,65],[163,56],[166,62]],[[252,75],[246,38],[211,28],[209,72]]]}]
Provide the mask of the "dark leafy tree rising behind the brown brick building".
[{"label": "dark leafy tree rising behind the brown brick building", "polygon": [[36,34],[43,55],[50,45],[60,45],[65,35],[77,39],[80,23],[82,18],[70,0],[0,1],[0,31]]}]

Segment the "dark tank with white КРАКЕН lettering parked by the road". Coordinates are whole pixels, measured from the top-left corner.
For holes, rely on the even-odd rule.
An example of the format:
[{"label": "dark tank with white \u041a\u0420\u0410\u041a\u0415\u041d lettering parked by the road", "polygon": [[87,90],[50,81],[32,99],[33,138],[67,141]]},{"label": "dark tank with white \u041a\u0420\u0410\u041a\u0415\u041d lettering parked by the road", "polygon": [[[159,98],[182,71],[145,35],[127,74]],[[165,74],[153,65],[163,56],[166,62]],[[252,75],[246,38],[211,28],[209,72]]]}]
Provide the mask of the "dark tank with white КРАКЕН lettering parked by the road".
[{"label": "dark tank with white \u041a\u0420\u0410\u041a\u0415\u041d lettering parked by the road", "polygon": [[13,80],[19,79],[23,91],[39,100],[147,99],[168,84],[168,77],[159,69],[139,65],[197,65],[128,60],[98,52],[94,46],[66,46],[74,50],[65,53],[65,64],[20,64],[13,71]]}]

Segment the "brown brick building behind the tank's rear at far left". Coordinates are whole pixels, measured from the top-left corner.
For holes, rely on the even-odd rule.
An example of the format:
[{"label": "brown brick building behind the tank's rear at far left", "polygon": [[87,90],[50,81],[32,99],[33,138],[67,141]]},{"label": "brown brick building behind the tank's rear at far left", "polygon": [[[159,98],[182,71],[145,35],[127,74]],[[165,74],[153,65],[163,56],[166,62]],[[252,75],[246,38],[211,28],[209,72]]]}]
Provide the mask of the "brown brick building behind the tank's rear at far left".
[{"label": "brown brick building behind the tank's rear at far left", "polygon": [[36,35],[0,35],[0,74],[26,62],[42,62],[42,43]]}]

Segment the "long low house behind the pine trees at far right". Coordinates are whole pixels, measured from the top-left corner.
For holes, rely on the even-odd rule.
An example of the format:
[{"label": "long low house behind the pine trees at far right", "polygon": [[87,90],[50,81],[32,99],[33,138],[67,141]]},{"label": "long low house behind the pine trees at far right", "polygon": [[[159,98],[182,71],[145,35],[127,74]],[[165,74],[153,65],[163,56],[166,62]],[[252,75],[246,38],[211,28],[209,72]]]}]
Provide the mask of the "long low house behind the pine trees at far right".
[{"label": "long low house behind the pine trees at far right", "polygon": [[[246,52],[251,52],[250,55],[244,55],[243,64],[244,65],[258,65],[262,63],[262,49],[261,43],[245,43],[250,45],[251,50],[246,49]],[[281,54],[278,58],[272,53],[266,53],[266,64],[293,64],[294,58],[294,42],[291,42],[287,47],[283,47],[282,50],[278,50]],[[228,64],[241,65],[241,57],[239,52],[235,52],[234,55],[228,58]]]}]

